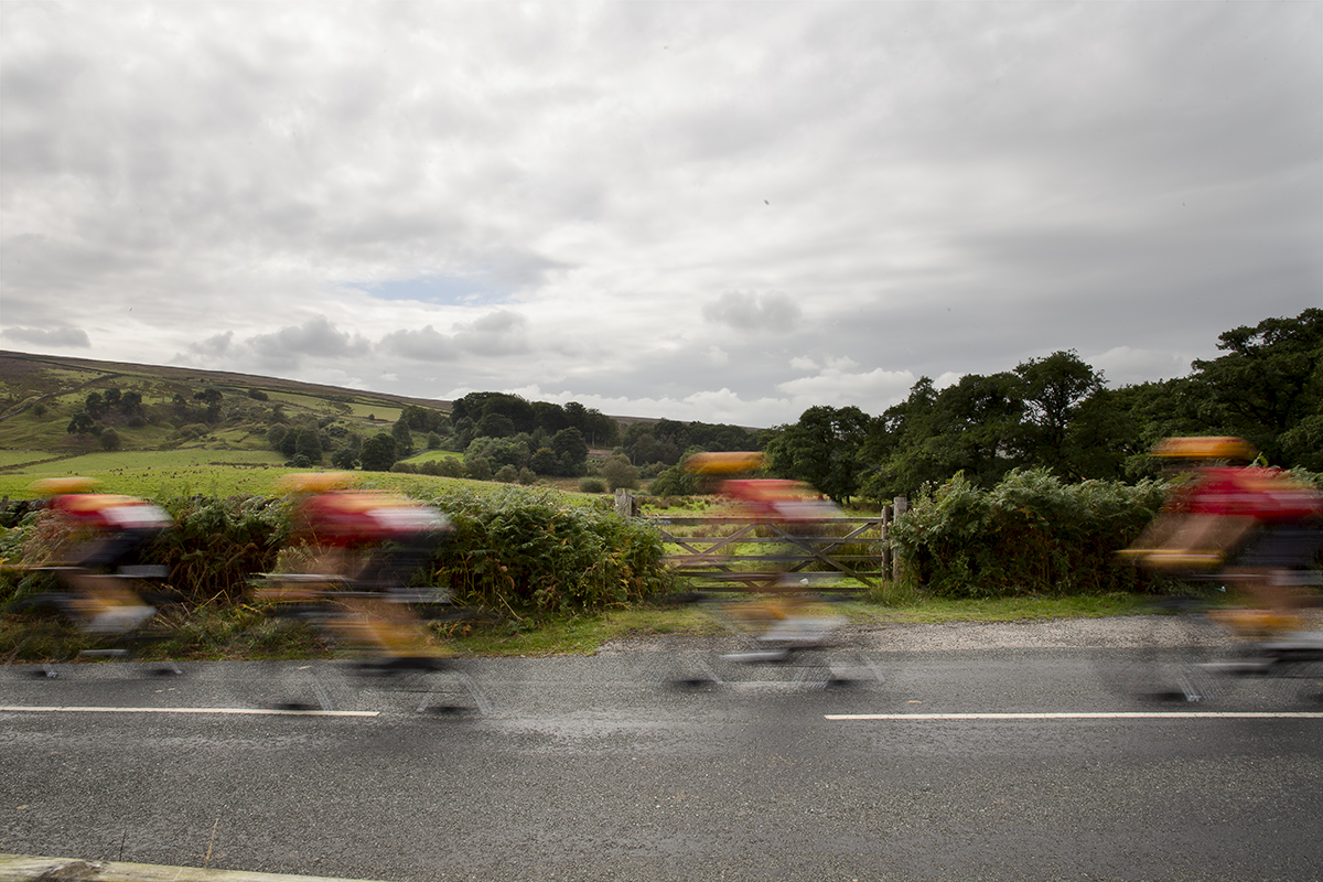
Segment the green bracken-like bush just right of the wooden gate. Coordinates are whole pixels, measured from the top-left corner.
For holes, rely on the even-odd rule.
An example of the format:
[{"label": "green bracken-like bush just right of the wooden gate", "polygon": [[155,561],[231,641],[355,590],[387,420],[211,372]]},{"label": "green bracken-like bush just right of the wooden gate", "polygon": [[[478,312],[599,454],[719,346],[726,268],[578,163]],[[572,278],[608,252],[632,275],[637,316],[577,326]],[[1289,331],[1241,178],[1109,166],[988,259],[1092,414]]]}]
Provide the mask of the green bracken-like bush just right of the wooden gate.
[{"label": "green bracken-like bush just right of the wooden gate", "polygon": [[1117,559],[1167,485],[1062,484],[1016,469],[988,491],[963,475],[912,500],[892,529],[905,579],[951,598],[1147,591],[1164,582]]}]

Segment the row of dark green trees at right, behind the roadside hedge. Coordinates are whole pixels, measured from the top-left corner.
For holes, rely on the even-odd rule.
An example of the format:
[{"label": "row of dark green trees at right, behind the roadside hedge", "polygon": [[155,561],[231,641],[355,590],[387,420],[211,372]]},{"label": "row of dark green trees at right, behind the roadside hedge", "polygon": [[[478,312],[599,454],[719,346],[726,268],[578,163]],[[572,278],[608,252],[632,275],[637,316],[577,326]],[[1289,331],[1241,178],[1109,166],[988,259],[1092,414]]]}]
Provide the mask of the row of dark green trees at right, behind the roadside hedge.
[{"label": "row of dark green trees at right, behind the roadside hedge", "polygon": [[1266,461],[1323,471],[1323,309],[1218,337],[1224,354],[1187,377],[1109,389],[1076,352],[935,389],[927,377],[880,417],[810,407],[773,430],[770,471],[836,501],[914,496],[962,473],[990,488],[1016,468],[1068,481],[1134,483],[1172,435],[1237,435]]}]

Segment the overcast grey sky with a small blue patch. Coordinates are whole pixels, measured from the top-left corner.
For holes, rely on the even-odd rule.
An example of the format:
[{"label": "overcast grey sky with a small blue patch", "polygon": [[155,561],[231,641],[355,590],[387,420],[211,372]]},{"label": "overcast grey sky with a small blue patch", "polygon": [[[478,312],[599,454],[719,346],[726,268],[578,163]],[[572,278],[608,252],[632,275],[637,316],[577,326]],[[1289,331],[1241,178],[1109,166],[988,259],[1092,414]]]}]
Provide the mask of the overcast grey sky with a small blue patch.
[{"label": "overcast grey sky with a small blue patch", "polygon": [[1320,3],[0,3],[0,348],[771,426],[1323,307]]}]

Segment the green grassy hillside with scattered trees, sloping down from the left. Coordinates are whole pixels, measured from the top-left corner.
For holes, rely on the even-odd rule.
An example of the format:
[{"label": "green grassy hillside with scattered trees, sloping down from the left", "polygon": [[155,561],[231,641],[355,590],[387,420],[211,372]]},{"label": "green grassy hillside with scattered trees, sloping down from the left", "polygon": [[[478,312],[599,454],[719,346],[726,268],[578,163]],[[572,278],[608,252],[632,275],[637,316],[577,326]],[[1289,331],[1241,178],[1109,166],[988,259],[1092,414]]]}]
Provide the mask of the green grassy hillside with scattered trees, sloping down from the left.
[{"label": "green grassy hillside with scattered trees, sloping down from the left", "polygon": [[[271,448],[271,426],[316,427],[332,442],[369,438],[410,405],[450,410],[273,377],[0,352],[0,493],[70,473],[112,492],[265,492],[288,459]],[[86,431],[70,431],[81,414]]]}]

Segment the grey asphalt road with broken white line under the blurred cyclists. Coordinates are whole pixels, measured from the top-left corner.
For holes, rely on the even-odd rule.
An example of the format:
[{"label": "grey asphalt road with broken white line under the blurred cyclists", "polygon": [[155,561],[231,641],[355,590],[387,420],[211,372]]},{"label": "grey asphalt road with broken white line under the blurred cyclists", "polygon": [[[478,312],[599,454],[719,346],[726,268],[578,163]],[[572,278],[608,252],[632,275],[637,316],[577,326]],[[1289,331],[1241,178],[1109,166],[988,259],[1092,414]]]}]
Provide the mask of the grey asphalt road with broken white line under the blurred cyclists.
[{"label": "grey asphalt road with broken white line under the blurred cyclists", "polygon": [[[852,688],[697,651],[0,668],[0,852],[398,882],[1323,878],[1323,684],[1140,702],[1103,688],[1131,657],[867,652],[835,661]],[[724,682],[656,682],[704,666]],[[318,713],[235,713],[277,705]]]}]

